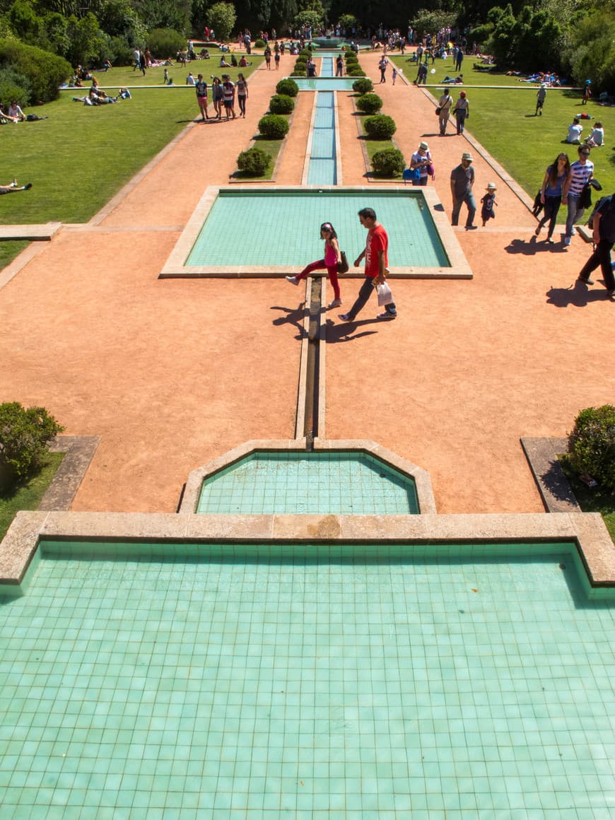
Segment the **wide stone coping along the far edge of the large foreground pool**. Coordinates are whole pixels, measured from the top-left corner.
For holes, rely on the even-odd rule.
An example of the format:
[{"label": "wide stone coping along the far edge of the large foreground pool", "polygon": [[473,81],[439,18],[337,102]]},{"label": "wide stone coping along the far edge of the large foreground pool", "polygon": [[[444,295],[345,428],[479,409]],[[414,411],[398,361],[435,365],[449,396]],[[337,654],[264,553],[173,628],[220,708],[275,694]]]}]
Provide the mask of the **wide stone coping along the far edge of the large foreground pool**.
[{"label": "wide stone coping along the far edge of the large foreground pool", "polygon": [[[595,512],[507,513],[503,515],[262,515],[208,516],[130,512],[19,512],[0,544],[3,594],[19,596],[40,539],[91,541],[168,541],[217,544],[576,544],[589,587],[600,597],[615,587],[615,546]],[[95,548],[93,547],[93,551]],[[408,550],[411,554],[411,550]]]}]

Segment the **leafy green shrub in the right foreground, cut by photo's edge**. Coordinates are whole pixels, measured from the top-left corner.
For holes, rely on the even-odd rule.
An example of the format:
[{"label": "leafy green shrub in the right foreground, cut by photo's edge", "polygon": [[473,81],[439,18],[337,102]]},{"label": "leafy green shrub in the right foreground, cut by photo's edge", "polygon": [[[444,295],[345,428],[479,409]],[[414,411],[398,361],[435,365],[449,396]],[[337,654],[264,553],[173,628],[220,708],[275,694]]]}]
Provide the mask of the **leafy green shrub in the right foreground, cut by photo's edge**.
[{"label": "leafy green shrub in the right foreground, cut by photo's edge", "polygon": [[568,463],[581,476],[615,490],[615,407],[586,408],[568,436]]}]

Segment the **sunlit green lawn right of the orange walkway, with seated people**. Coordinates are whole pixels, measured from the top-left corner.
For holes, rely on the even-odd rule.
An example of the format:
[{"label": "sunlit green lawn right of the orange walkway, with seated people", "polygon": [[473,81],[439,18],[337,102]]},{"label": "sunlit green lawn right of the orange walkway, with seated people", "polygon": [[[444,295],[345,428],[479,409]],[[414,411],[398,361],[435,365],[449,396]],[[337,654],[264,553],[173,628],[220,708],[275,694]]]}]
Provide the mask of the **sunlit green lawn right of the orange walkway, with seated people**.
[{"label": "sunlit green lawn right of the orange walkway, with seated people", "polygon": [[[394,57],[398,66],[404,66],[405,58]],[[586,112],[593,117],[583,122],[583,136],[589,135],[591,125],[601,121],[604,125],[605,145],[603,148],[594,148],[591,161],[594,162],[594,176],[606,193],[615,190],[615,151],[613,151],[613,135],[615,135],[615,108],[598,105],[590,101],[581,106],[581,92],[571,90],[548,89],[544,103],[544,115],[534,116],[537,85],[520,83],[515,77],[505,75],[485,74],[472,69],[472,57],[465,57],[463,61],[464,86],[450,87],[453,99],[457,99],[459,90],[466,89],[470,102],[470,119],[466,130],[485,146],[486,150],[522,185],[526,193],[532,198],[535,196],[544,171],[560,151],[565,151],[571,161],[577,157],[576,145],[563,145],[562,141],[567,134],[567,126],[572,122],[575,114]],[[408,70],[403,68],[408,80],[414,80],[416,66]],[[431,70],[430,66],[430,70]],[[428,75],[428,84],[441,80],[444,75],[454,75],[453,60],[436,60],[435,75]],[[486,85],[505,85],[507,88],[492,89]],[[480,85],[481,88],[471,88]],[[469,88],[468,88],[469,86]],[[427,86],[430,92],[438,98],[442,86]],[[437,134],[437,120],[425,124],[425,136]],[[444,142],[444,140],[443,140]],[[449,148],[449,142],[445,143]],[[433,150],[437,160],[440,143],[434,144]],[[594,200],[595,200],[594,195]],[[560,221],[566,217],[565,208],[560,209]]]}]

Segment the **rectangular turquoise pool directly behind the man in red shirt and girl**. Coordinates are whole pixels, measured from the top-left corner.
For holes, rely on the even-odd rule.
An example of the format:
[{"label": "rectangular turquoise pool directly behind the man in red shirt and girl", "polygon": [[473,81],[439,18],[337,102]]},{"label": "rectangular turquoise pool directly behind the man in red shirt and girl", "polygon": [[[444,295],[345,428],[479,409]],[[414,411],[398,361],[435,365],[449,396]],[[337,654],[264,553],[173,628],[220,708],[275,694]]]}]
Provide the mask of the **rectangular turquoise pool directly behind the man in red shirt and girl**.
[{"label": "rectangular turquoise pool directly behind the man in red shirt and girl", "polygon": [[[367,205],[389,234],[389,266],[450,266],[429,207],[416,189],[222,189],[185,264],[303,267],[322,257],[318,229],[324,221],[335,225],[341,247],[352,259],[365,248],[357,213]],[[231,234],[232,241],[225,241]]]}]

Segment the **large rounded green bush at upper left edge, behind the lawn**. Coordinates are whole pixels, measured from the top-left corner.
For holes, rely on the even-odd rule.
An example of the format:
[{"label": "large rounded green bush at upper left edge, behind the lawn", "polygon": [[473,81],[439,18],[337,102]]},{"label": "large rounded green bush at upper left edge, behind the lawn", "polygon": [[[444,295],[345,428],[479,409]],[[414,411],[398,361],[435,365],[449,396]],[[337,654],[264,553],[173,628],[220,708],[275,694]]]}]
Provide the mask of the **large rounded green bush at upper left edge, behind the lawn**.
[{"label": "large rounded green bush at upper left edge, behind the lawn", "polygon": [[31,103],[49,103],[60,96],[60,86],[72,74],[64,57],[26,46],[19,40],[0,40],[0,68],[24,75],[32,88]]}]

